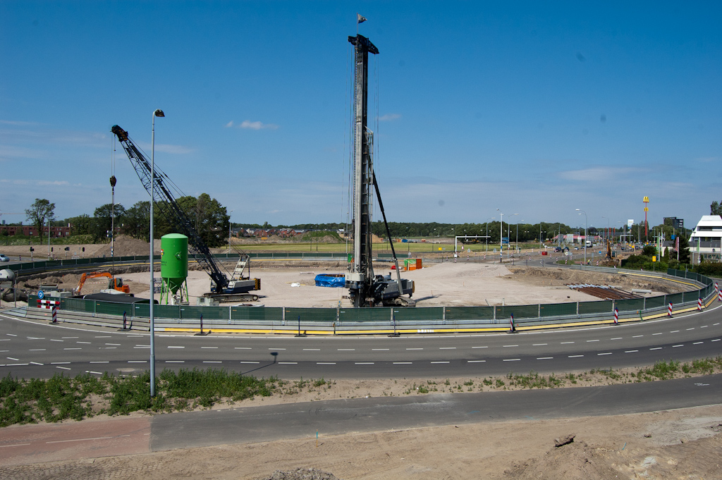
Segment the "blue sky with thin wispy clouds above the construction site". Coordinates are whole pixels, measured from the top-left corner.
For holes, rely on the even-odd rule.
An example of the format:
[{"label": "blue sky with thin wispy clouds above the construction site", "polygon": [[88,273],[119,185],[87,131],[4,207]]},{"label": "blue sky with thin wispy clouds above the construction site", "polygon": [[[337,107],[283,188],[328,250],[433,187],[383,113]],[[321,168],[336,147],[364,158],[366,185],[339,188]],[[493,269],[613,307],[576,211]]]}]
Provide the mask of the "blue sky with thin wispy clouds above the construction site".
[{"label": "blue sky with thin wispy clouds above the construction site", "polygon": [[[110,127],[149,152],[160,108],[156,162],[186,194],[344,222],[360,12],[391,221],[606,227],[649,196],[651,224],[692,227],[722,200],[722,4],[544,3],[2,1],[0,213],[110,203]],[[116,201],[146,200],[115,159]]]}]

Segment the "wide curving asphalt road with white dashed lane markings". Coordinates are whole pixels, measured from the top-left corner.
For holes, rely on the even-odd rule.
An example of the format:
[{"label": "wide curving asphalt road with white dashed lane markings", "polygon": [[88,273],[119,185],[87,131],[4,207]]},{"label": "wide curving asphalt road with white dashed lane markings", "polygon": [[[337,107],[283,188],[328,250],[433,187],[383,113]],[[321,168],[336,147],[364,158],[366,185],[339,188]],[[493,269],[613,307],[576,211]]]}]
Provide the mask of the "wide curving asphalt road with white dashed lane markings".
[{"label": "wide curving asphalt road with white dashed lane markings", "polygon": [[[225,367],[280,378],[403,378],[567,372],[722,354],[722,308],[620,326],[474,335],[193,336],[157,334],[156,365]],[[0,375],[47,378],[149,368],[149,334],[0,314]]]}]

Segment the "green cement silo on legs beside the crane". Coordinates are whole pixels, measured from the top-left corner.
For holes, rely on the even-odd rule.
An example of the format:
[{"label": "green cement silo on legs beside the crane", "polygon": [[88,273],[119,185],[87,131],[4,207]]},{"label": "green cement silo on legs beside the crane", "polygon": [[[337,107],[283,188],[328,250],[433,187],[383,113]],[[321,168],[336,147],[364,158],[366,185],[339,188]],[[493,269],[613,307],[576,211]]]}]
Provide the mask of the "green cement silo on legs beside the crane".
[{"label": "green cement silo on legs beside the crane", "polygon": [[[188,237],[169,233],[160,237],[160,277],[162,291],[160,302],[168,304],[188,302]],[[181,291],[178,294],[178,290]],[[169,298],[170,297],[170,298]],[[165,302],[163,301],[165,299]]]}]

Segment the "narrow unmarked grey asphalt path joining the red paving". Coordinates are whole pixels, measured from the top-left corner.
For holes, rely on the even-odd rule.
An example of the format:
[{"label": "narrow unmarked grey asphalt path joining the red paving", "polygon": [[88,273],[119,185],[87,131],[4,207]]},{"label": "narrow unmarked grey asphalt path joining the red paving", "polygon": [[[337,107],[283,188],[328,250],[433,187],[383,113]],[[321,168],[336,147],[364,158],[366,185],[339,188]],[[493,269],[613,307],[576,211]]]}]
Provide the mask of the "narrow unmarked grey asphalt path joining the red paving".
[{"label": "narrow unmarked grey asphalt path joining the red paving", "polygon": [[713,405],[722,374],[604,387],[352,398],[155,416],[151,450]]}]

